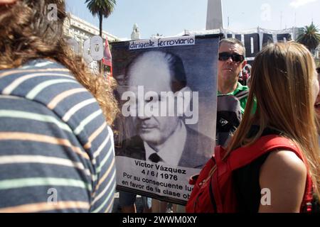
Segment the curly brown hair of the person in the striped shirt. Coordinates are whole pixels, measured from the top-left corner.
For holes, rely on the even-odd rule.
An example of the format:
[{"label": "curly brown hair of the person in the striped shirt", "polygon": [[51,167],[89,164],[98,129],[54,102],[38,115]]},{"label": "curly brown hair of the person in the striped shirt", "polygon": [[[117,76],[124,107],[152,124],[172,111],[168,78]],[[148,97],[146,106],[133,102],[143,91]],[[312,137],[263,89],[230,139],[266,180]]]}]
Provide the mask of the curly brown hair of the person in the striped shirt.
[{"label": "curly brown hair of the person in the striped shirt", "polygon": [[[48,18],[49,4],[57,6],[56,20]],[[0,6],[0,70],[19,67],[37,58],[60,62],[95,96],[111,125],[118,112],[112,95],[114,79],[92,74],[82,57],[70,49],[63,33],[66,17],[63,0],[21,0],[11,6]]]}]

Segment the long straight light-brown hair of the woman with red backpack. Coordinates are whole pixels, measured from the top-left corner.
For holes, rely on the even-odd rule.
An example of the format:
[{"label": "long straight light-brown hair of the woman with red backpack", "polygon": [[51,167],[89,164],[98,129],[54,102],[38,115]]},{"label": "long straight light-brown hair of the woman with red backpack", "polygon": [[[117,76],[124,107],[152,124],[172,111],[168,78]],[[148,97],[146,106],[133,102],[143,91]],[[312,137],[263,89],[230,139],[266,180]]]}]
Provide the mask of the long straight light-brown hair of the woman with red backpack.
[{"label": "long straight light-brown hair of the woman with red backpack", "polygon": [[[301,148],[319,196],[314,76],[314,60],[303,45],[294,42],[267,45],[255,57],[245,114],[227,150],[230,153],[255,143],[267,127],[277,129]],[[257,111],[251,114],[254,99],[257,100]],[[259,125],[260,129],[248,138],[252,124]]]}]

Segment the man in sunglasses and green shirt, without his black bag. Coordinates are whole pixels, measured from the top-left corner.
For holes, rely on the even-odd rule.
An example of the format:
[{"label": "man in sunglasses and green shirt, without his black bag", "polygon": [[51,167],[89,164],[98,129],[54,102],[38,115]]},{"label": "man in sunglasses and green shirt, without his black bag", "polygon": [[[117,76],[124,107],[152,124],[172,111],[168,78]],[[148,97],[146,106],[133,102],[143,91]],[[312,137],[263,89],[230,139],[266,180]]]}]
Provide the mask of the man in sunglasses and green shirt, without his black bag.
[{"label": "man in sunglasses and green shirt, without his black bag", "polygon": [[[218,95],[229,94],[236,96],[247,91],[247,86],[238,82],[240,72],[247,64],[245,60],[245,46],[235,38],[225,38],[219,43],[218,57]],[[241,112],[245,111],[247,95],[239,99]]]}]

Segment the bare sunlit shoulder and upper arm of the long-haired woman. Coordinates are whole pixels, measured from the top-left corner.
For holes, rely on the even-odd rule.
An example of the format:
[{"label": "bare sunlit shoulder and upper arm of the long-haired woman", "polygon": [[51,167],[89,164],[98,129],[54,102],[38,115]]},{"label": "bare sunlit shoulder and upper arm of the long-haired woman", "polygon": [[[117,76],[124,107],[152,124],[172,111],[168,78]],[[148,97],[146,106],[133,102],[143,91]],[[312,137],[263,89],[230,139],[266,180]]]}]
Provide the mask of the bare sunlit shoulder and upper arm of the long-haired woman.
[{"label": "bare sunlit shoulder and upper arm of the long-haired woman", "polygon": [[292,151],[277,150],[260,169],[260,187],[270,189],[270,206],[260,212],[299,212],[306,184],[306,165]]}]

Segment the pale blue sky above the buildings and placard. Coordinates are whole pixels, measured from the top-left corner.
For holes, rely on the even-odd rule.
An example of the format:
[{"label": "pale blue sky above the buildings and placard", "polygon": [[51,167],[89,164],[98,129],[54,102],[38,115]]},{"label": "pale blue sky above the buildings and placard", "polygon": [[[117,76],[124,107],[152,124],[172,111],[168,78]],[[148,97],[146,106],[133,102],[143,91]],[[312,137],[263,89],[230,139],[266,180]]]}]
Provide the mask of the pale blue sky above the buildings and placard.
[{"label": "pale blue sky above the buildings and placard", "polygon": [[[98,26],[85,0],[66,0],[67,11]],[[103,29],[119,38],[130,38],[134,23],[141,38],[159,33],[170,36],[206,28],[207,0],[117,0]],[[306,26],[313,20],[320,28],[320,0],[223,0],[224,28],[284,29]],[[229,18],[229,20],[228,20]],[[229,23],[228,23],[229,21]]]}]

